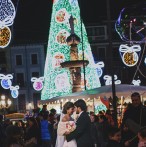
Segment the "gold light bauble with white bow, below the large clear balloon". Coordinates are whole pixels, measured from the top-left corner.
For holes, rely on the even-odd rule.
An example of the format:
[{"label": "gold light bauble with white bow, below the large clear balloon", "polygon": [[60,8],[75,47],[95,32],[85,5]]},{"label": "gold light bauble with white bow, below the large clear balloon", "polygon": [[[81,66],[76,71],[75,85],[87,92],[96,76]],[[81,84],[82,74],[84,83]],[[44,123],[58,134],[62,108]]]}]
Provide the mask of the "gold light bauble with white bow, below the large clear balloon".
[{"label": "gold light bauble with white bow, below the large clear balloon", "polygon": [[129,67],[135,66],[137,64],[139,59],[137,52],[139,51],[141,51],[140,45],[128,46],[121,44],[119,48],[120,56],[123,63]]}]

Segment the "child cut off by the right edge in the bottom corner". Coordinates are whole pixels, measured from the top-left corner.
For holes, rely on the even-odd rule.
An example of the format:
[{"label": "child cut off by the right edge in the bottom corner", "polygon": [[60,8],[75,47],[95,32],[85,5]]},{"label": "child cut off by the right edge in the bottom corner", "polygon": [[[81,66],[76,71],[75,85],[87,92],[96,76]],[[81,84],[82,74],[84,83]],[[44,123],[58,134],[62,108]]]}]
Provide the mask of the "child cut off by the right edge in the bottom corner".
[{"label": "child cut off by the right edge in the bottom corner", "polygon": [[143,127],[138,132],[138,147],[146,147],[146,127]]}]

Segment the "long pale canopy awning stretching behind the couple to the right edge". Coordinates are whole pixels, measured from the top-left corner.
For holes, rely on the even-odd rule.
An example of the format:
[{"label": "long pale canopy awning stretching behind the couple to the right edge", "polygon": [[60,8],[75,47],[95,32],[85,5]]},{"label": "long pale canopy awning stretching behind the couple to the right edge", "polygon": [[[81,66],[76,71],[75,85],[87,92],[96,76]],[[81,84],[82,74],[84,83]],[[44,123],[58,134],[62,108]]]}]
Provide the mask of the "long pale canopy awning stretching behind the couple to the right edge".
[{"label": "long pale canopy awning stretching behind the couple to the right edge", "polygon": [[[118,84],[115,85],[115,91],[116,96],[121,97],[124,96],[125,98],[130,98],[131,94],[133,92],[139,92],[142,97],[146,96],[146,86],[135,86],[135,85],[128,85],[128,84]],[[91,89],[91,90],[85,90],[81,92],[75,92],[69,95],[54,97],[52,99],[48,100],[41,100],[39,104],[46,104],[46,103],[52,103],[57,102],[58,100],[71,100],[74,99],[93,99],[93,98],[99,98],[99,97],[112,97],[112,85],[108,86],[101,86],[99,88]]]}]

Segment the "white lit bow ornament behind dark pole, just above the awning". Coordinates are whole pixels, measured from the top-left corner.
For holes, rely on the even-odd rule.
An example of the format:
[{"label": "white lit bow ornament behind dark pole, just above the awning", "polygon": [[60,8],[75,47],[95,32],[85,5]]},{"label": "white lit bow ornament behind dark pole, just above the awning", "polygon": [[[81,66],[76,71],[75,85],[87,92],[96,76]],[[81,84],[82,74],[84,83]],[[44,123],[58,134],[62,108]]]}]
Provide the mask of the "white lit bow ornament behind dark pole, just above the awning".
[{"label": "white lit bow ornament behind dark pole, just above the awning", "polygon": [[[112,77],[109,75],[105,75],[103,77],[103,79],[105,80],[105,85],[112,85]],[[118,77],[117,75],[114,75],[114,82],[115,84],[121,84],[121,80],[117,80]]]}]

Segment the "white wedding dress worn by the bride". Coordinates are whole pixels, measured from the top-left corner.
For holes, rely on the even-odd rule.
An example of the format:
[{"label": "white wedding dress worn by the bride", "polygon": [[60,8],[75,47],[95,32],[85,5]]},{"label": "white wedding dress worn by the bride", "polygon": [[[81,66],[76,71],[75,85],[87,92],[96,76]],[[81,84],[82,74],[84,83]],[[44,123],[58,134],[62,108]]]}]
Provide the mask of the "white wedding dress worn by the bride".
[{"label": "white wedding dress worn by the bride", "polygon": [[77,147],[76,140],[73,139],[69,142],[66,141],[65,136],[63,135],[66,132],[66,124],[68,122],[62,122],[63,116],[60,118],[57,129],[57,139],[55,147]]}]

